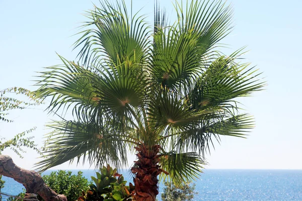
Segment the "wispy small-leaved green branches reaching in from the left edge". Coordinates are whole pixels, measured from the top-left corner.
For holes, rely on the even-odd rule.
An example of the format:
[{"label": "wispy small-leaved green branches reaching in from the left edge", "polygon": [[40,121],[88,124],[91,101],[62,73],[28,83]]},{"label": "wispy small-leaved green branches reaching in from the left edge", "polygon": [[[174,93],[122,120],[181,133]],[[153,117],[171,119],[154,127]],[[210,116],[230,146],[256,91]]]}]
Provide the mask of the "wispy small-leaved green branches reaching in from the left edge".
[{"label": "wispy small-leaved green branches reaching in from the left edge", "polygon": [[[17,98],[13,98],[10,96],[6,96],[5,94],[23,94],[30,98],[30,102],[25,102],[23,100],[19,100]],[[34,106],[39,104],[37,100],[35,100],[32,96],[31,91],[21,88],[21,87],[12,87],[0,90],[0,122],[13,122],[13,120],[7,119],[7,115],[9,115],[8,111],[14,109],[25,109],[28,106]],[[33,137],[26,137],[25,135],[31,133],[36,128],[32,128],[30,130],[24,131],[22,133],[17,134],[10,140],[6,140],[5,138],[0,136],[0,154],[4,149],[10,148],[12,149],[20,158],[23,158],[21,153],[25,153],[23,147],[31,148],[40,153],[35,141],[33,141]],[[5,181],[2,179],[2,175],[0,175],[0,191],[4,187]]]}]

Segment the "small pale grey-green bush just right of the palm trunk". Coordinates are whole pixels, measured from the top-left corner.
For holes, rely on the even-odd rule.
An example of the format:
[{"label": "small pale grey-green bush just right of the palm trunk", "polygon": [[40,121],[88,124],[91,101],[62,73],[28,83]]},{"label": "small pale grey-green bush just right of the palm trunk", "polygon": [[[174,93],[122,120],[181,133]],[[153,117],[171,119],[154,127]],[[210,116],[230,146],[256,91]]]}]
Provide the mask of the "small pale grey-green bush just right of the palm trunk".
[{"label": "small pale grey-green bush just right of the palm trunk", "polygon": [[164,192],[162,193],[163,201],[190,201],[193,200],[195,185],[192,183],[182,183],[180,186],[175,186],[171,182],[165,182]]}]

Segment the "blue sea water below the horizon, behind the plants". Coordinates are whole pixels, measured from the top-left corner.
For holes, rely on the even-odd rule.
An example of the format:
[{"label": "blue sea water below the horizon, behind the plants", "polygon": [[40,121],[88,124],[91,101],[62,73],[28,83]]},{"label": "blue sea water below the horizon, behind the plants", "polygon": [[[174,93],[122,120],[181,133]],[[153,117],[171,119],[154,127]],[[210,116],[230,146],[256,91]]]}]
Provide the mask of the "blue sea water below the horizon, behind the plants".
[{"label": "blue sea water below the horizon, behind the plants", "polygon": [[[81,170],[85,177],[94,176],[94,170]],[[46,171],[49,174],[51,171]],[[78,170],[73,170],[77,173]],[[127,181],[132,181],[127,171],[121,171]],[[5,177],[2,190],[18,194],[23,185]],[[207,169],[196,182],[198,194],[194,200],[231,201],[302,201],[302,170],[216,170]],[[163,191],[160,185],[160,192]],[[158,195],[161,200],[160,194]]]}]

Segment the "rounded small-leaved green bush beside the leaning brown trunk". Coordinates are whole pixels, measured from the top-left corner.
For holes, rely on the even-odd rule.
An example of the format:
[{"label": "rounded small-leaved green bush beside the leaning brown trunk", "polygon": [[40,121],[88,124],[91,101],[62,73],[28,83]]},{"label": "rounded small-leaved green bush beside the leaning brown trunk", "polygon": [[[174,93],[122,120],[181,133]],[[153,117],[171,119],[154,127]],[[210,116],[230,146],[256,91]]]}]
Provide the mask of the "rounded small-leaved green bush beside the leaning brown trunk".
[{"label": "rounded small-leaved green bush beside the leaning brown trunk", "polygon": [[[43,180],[56,193],[64,194],[67,200],[77,200],[90,184],[81,171],[78,171],[77,175],[65,170],[52,171],[49,175],[43,175]],[[43,200],[41,197],[39,199]]]}]

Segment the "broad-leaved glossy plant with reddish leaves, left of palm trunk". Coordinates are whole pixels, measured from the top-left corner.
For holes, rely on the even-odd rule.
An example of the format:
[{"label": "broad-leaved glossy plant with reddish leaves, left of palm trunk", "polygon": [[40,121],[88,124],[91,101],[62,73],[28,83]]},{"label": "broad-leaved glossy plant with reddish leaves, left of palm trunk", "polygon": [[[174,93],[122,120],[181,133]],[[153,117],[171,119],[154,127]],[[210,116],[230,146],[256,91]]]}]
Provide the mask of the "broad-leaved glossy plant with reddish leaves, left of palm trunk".
[{"label": "broad-leaved glossy plant with reddish leaves, left of palm trunk", "polygon": [[107,167],[103,166],[100,172],[97,172],[97,178],[91,177],[95,184],[91,184],[87,192],[83,191],[83,196],[80,196],[78,201],[121,201],[132,199],[134,186],[132,183],[126,186],[127,181],[124,181],[124,177],[118,174],[116,169],[112,169],[112,167],[107,165]]}]

